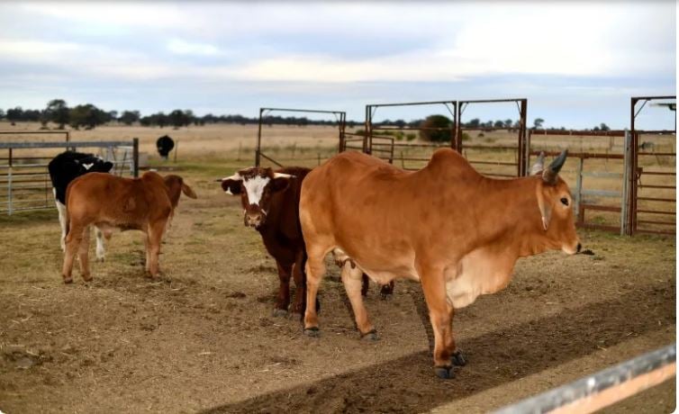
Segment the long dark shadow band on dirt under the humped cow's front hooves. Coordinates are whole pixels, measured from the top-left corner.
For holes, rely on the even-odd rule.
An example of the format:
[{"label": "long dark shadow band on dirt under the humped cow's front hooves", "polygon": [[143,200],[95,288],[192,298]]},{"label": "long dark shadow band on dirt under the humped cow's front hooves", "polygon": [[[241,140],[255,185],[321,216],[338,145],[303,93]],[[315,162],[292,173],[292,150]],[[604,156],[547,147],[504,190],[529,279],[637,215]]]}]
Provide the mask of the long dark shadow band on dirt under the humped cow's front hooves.
[{"label": "long dark shadow band on dirt under the humped cow's front hooves", "polygon": [[[647,285],[620,297],[460,338],[468,364],[456,378],[434,377],[429,352],[372,365],[205,410],[250,412],[421,412],[564,364],[634,336],[674,325],[674,284]],[[428,332],[423,304],[418,311]],[[423,314],[424,312],[424,314]],[[658,327],[661,324],[662,328]],[[328,361],[332,364],[332,361]]]}]

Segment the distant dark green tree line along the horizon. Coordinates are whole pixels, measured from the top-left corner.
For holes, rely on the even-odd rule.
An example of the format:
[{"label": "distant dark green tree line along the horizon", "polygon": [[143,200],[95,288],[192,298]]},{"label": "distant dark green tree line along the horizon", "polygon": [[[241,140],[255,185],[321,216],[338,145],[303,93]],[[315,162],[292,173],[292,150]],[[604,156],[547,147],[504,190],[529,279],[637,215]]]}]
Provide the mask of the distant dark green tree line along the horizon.
[{"label": "distant dark green tree line along the horizon", "polygon": [[[238,123],[242,125],[246,124],[258,124],[259,119],[257,117],[247,117],[240,114],[224,114],[224,115],[214,115],[213,113],[207,113],[203,116],[195,115],[195,113],[190,110],[176,109],[172,112],[156,112],[150,115],[142,116],[139,111],[105,111],[98,108],[92,103],[78,104],[76,106],[68,106],[68,103],[63,99],[52,99],[44,109],[23,109],[21,106],[16,106],[14,108],[7,109],[6,111],[0,109],[0,120],[5,119],[11,122],[18,121],[39,121],[42,123],[43,128],[47,128],[47,124],[52,122],[57,125],[58,129],[63,130],[66,125],[71,128],[79,130],[84,128],[86,130],[94,129],[99,125],[104,125],[107,123],[117,122],[124,125],[140,124],[146,127],[160,128],[166,126],[172,127],[187,127],[189,125],[205,125],[213,123]],[[334,120],[310,120],[306,117],[295,117],[295,116],[277,116],[268,115],[263,119],[264,123],[267,125],[336,125],[337,121]],[[533,121],[533,128],[540,129],[544,120],[542,118],[536,118]],[[363,122],[359,121],[347,121],[347,126],[353,128],[358,125],[362,125]],[[430,115],[426,119],[418,119],[412,121],[399,120],[385,120],[378,122],[381,126],[389,126],[394,128],[405,128],[405,127],[440,127],[446,128],[452,124],[452,121],[444,115]],[[495,128],[495,129],[507,129],[515,130],[521,126],[519,120],[496,120],[496,121],[481,121],[479,118],[472,119],[462,123],[462,126],[466,128]],[[561,128],[565,130],[565,128]],[[595,126],[593,130],[610,130],[610,128],[605,124],[601,123]]]}]

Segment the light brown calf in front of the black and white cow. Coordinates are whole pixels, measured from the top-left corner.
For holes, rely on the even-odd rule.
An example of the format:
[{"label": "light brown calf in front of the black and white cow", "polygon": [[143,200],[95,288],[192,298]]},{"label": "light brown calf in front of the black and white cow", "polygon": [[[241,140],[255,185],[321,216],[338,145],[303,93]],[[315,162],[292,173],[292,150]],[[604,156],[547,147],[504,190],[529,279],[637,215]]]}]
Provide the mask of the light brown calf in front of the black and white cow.
[{"label": "light brown calf in front of the black and white cow", "polygon": [[73,180],[66,193],[68,234],[62,270],[64,283],[73,282],[71,272],[76,253],[83,279],[92,280],[87,257],[91,225],[102,229],[107,237],[116,228],[143,231],[146,270],[151,277],[158,275],[160,242],[180,192],[196,198],[191,187],[177,175],[163,179],[157,173],[148,172],[132,179],[90,173]]}]

